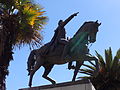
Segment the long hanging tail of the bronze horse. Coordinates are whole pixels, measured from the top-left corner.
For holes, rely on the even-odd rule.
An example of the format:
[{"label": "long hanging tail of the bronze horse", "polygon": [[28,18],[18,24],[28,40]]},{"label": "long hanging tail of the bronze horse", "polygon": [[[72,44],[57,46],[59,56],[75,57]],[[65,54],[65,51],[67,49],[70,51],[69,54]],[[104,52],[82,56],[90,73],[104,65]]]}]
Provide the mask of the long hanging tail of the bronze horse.
[{"label": "long hanging tail of the bronze horse", "polygon": [[29,55],[28,61],[27,61],[28,75],[30,75],[31,70],[33,70],[35,61],[36,61],[36,50],[32,50],[30,52],[30,55]]}]

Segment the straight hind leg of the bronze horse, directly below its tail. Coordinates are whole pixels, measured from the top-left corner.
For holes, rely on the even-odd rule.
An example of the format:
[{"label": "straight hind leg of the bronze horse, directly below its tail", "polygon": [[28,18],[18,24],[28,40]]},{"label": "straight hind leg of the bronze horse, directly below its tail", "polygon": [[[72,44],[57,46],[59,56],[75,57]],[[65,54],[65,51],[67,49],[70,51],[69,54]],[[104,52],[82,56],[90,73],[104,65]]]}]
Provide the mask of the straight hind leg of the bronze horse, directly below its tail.
[{"label": "straight hind leg of the bronze horse, directly below its tail", "polygon": [[33,70],[30,72],[30,79],[29,79],[29,87],[32,86],[32,78],[33,75],[35,74],[35,72],[43,65],[43,61],[42,60],[37,60],[35,67],[33,68]]}]

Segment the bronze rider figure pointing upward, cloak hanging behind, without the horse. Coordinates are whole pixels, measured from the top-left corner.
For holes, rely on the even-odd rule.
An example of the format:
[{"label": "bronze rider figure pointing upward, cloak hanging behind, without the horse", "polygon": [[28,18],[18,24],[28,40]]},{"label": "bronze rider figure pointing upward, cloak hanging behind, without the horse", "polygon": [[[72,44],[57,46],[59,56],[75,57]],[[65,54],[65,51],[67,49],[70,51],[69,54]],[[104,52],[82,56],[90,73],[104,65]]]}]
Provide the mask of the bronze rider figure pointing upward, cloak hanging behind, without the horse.
[{"label": "bronze rider figure pointing upward, cloak hanging behind, without the horse", "polygon": [[48,48],[47,53],[49,51],[54,51],[54,49],[58,46],[58,44],[66,45],[68,43],[68,40],[66,39],[66,31],[64,26],[74,17],[77,16],[77,13],[72,14],[70,17],[68,17],[65,21],[59,20],[58,27],[55,30],[55,34],[50,42],[50,48]]}]

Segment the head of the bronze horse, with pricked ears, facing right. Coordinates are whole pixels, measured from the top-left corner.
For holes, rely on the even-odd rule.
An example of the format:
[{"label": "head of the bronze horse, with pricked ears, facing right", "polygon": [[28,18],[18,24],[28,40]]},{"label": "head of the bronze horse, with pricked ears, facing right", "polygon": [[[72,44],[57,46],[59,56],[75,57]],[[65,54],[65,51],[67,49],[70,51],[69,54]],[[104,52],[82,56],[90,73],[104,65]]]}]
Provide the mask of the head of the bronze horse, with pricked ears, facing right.
[{"label": "head of the bronze horse, with pricked ears, facing right", "polygon": [[88,32],[88,41],[90,43],[94,43],[96,41],[98,27],[101,25],[101,23],[98,23],[98,20],[96,22],[89,21],[89,22],[85,22],[85,23],[86,23],[85,32]]}]

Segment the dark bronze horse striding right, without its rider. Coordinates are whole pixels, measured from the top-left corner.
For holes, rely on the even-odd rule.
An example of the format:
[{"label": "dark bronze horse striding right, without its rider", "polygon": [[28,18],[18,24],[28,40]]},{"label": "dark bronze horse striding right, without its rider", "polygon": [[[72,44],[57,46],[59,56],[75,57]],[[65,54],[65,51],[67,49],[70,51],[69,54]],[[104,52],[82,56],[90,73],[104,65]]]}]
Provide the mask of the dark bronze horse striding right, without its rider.
[{"label": "dark bronze horse striding right, without its rider", "polygon": [[71,61],[77,62],[72,79],[72,81],[75,81],[78,70],[84,61],[96,61],[96,58],[89,54],[87,45],[96,41],[96,34],[100,25],[101,23],[98,23],[98,21],[85,22],[78,29],[73,38],[69,40],[67,45],[58,47],[58,49],[56,49],[52,54],[48,54],[47,56],[42,55],[42,53],[44,53],[44,48],[47,47],[47,45],[31,52],[34,54],[30,54],[29,57],[31,58],[28,60],[28,71],[30,75],[29,86],[31,87],[32,85],[33,75],[41,66],[45,68],[45,72],[42,77],[49,80],[52,84],[55,84],[56,82],[48,77],[53,66],[55,64],[61,65]]}]

